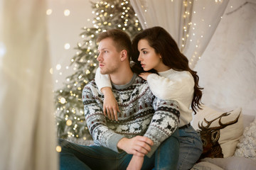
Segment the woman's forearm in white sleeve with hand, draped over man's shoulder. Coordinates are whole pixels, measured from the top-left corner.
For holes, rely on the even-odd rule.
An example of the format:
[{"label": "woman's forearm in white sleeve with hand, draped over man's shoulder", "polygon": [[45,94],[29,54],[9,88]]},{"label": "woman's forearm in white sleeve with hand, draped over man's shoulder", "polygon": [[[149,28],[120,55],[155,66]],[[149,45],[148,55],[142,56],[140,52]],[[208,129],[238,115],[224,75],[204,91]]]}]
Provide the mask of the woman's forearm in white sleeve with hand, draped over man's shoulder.
[{"label": "woman's forearm in white sleeve with hand, draped over man's shoulder", "polygon": [[112,93],[112,85],[110,81],[110,76],[108,74],[103,75],[100,74],[100,68],[97,68],[96,74],[95,74],[95,82],[102,92],[104,94],[104,101],[103,101],[103,113],[104,115],[108,116],[108,118],[112,120],[118,120],[117,118],[117,112],[119,112],[119,107],[117,105],[117,101],[114,98],[114,94]]}]

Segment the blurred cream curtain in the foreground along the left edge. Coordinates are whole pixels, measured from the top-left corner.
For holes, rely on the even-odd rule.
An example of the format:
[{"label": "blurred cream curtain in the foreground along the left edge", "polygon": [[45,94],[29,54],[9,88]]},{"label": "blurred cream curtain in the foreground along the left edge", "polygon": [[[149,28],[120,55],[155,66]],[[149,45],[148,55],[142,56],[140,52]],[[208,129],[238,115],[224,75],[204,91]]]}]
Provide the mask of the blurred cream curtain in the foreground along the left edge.
[{"label": "blurred cream curtain in the foreground along the left edge", "polygon": [[0,169],[58,169],[45,0],[0,0]]}]

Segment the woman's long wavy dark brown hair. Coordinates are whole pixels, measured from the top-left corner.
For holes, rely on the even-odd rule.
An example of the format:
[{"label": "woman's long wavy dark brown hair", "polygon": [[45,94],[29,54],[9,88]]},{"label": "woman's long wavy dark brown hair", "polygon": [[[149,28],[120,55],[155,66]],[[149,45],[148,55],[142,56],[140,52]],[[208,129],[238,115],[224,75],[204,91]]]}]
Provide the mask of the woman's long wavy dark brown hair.
[{"label": "woman's long wavy dark brown hair", "polygon": [[[139,40],[147,40],[149,45],[154,48],[156,54],[160,54],[162,60],[166,66],[171,67],[176,71],[188,71],[192,74],[193,79],[195,81],[193,100],[191,103],[191,108],[196,113],[198,109],[201,109],[201,98],[202,98],[202,90],[198,85],[199,77],[196,74],[197,72],[193,71],[188,66],[188,59],[185,55],[181,53],[178,49],[178,45],[176,41],[171,37],[171,35],[159,26],[153,28],[147,28],[135,36],[132,40],[132,61],[134,64],[132,65],[132,70],[137,74],[144,72],[141,67],[138,51],[138,42]],[[149,72],[156,72],[154,69]]]}]

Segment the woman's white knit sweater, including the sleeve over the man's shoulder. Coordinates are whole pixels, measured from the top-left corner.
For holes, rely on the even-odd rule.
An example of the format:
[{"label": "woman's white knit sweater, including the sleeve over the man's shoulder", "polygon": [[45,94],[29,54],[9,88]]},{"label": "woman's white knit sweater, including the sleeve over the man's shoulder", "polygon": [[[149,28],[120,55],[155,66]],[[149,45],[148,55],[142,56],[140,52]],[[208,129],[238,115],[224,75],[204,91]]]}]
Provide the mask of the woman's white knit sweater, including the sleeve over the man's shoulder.
[{"label": "woman's white knit sweater, including the sleeve over the man's shoulder", "polygon": [[[191,122],[191,102],[193,99],[195,81],[190,72],[177,72],[174,69],[169,69],[166,72],[159,72],[159,75],[149,74],[147,81],[150,90],[156,97],[178,102],[180,111],[180,123],[178,127]],[[95,82],[99,89],[105,86],[112,87],[110,77],[100,74],[99,68],[95,75]]]}]

